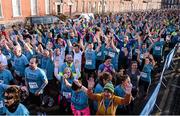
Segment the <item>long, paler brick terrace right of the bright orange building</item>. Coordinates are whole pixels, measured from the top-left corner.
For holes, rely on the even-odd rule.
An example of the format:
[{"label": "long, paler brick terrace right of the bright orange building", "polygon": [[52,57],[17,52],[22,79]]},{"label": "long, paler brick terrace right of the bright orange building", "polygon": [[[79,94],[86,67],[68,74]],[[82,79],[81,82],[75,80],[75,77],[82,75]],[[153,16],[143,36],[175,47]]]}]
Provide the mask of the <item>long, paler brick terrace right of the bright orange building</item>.
[{"label": "long, paler brick terrace right of the bright orange building", "polygon": [[54,0],[54,14],[124,12],[159,9],[161,0]]}]

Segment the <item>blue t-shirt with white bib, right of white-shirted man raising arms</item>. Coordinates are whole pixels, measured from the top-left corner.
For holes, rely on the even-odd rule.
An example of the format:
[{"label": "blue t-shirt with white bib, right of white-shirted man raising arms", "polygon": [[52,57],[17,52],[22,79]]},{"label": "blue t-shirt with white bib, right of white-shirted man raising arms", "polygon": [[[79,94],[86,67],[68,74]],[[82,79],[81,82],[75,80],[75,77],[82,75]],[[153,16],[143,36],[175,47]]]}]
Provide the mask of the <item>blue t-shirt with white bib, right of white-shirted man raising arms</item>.
[{"label": "blue t-shirt with white bib, right of white-shirted man raising arms", "polygon": [[96,52],[94,50],[85,51],[85,68],[95,69],[96,68]]}]

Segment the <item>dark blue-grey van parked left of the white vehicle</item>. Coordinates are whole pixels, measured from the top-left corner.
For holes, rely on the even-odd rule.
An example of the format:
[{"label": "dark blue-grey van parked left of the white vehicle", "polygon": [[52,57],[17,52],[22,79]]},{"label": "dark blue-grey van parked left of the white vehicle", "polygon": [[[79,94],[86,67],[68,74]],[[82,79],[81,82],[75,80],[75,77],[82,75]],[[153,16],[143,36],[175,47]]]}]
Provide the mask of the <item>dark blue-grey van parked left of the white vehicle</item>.
[{"label": "dark blue-grey van parked left of the white vehicle", "polygon": [[52,23],[58,23],[61,21],[56,16],[33,16],[33,17],[27,17],[26,18],[26,24],[52,24]]}]

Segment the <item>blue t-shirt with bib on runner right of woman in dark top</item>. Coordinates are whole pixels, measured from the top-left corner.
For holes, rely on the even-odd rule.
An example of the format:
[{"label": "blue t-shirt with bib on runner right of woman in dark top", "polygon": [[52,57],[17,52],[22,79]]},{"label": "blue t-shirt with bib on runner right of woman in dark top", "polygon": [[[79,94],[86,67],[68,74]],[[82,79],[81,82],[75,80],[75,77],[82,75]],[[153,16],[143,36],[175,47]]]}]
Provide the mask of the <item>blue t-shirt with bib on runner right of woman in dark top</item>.
[{"label": "blue t-shirt with bib on runner right of woman in dark top", "polygon": [[153,70],[152,64],[145,64],[141,72],[141,80],[151,82],[151,71]]}]

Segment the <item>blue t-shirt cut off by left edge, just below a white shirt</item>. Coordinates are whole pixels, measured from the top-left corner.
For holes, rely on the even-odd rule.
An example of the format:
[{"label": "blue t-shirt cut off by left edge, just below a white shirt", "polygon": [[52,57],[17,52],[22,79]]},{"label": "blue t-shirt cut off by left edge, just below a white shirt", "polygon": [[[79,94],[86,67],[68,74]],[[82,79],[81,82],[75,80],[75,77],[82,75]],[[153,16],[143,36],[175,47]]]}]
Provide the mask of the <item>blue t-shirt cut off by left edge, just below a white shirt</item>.
[{"label": "blue t-shirt cut off by left edge, just below a white shirt", "polygon": [[11,72],[7,69],[0,71],[0,83],[9,85],[9,82],[13,80]]}]

